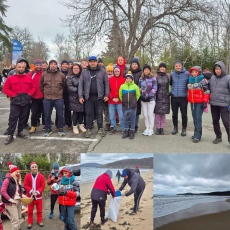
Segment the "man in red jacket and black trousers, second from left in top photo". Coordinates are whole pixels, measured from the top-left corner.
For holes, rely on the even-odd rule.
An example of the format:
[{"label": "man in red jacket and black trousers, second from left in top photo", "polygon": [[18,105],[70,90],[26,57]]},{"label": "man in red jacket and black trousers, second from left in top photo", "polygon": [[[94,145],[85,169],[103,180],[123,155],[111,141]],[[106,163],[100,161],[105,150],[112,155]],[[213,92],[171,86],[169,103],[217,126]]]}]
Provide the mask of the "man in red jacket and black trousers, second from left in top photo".
[{"label": "man in red jacket and black trousers, second from left in top photo", "polygon": [[[38,123],[38,119],[42,112],[42,124],[45,124],[44,113],[43,113],[43,93],[40,90],[40,79],[42,75],[42,61],[37,59],[34,61],[34,71],[28,73],[28,76],[32,78],[32,81],[36,87],[36,92],[32,96],[31,105],[31,129],[30,134],[34,133]],[[40,114],[39,114],[40,113]]]}]

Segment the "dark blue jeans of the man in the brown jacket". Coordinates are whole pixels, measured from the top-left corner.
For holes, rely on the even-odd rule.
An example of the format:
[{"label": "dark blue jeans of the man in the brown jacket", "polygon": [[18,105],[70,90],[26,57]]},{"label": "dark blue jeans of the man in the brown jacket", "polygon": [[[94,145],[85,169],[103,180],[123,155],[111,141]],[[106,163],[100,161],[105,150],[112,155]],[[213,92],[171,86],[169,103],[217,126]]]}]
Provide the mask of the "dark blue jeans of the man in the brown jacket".
[{"label": "dark blue jeans of the man in the brown jacket", "polygon": [[62,129],[63,126],[65,125],[65,120],[63,115],[63,107],[64,107],[63,99],[58,99],[58,100],[43,99],[43,107],[45,113],[46,129],[51,129],[51,114],[52,114],[53,107],[55,107],[56,115],[58,117],[57,127],[59,129]]}]

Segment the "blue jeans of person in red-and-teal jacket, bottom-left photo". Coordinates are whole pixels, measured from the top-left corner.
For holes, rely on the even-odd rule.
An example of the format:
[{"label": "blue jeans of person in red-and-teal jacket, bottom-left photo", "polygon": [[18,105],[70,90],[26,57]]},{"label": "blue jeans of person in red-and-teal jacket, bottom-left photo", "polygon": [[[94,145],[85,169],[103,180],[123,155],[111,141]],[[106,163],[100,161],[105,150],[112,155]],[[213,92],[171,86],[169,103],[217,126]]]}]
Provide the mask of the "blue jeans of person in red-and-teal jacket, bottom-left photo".
[{"label": "blue jeans of person in red-and-teal jacket, bottom-left photo", "polygon": [[75,206],[61,205],[61,211],[65,223],[64,230],[77,230],[76,224],[74,222],[74,210]]}]

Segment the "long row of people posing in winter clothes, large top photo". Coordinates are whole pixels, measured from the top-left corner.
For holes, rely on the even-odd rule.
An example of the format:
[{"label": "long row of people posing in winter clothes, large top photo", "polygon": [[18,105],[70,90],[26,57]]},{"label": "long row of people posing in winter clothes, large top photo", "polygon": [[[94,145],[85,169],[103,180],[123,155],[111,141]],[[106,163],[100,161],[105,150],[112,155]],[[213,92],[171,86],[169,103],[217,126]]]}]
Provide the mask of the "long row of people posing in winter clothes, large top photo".
[{"label": "long row of people posing in winter clothes, large top photo", "polygon": [[[133,58],[129,70],[126,60],[119,56],[116,65],[105,69],[103,60],[90,56],[81,65],[63,60],[58,63],[51,60],[45,66],[41,60],[35,60],[35,70],[28,72],[28,62],[21,58],[16,64],[14,73],[7,78],[3,92],[10,98],[9,127],[5,144],[13,140],[18,121],[17,137],[27,138],[23,128],[27,123],[31,103],[31,129],[42,117],[44,136],[52,134],[52,109],[56,109],[55,125],[60,136],[64,136],[64,126],[75,134],[79,131],[85,137],[91,136],[94,121],[97,121],[98,133],[105,136],[117,132],[120,123],[122,138],[134,138],[139,132],[139,115],[144,115],[145,130],[143,135],[152,136],[156,124],[156,134],[164,135],[166,114],[172,108],[173,131],[178,133],[178,110],[182,116],[181,136],[186,136],[188,123],[187,107],[191,104],[194,121],[194,143],[202,136],[202,114],[211,105],[214,132],[213,143],[222,141],[220,117],[230,142],[230,75],[226,73],[223,62],[217,62],[213,74],[206,69],[202,73],[199,66],[186,71],[181,61],[176,61],[174,70],[167,74],[167,66],[161,62],[156,74],[151,66],[143,68],[137,58]],[[103,117],[104,114],[104,117]],[[106,125],[103,127],[103,121]]]}]

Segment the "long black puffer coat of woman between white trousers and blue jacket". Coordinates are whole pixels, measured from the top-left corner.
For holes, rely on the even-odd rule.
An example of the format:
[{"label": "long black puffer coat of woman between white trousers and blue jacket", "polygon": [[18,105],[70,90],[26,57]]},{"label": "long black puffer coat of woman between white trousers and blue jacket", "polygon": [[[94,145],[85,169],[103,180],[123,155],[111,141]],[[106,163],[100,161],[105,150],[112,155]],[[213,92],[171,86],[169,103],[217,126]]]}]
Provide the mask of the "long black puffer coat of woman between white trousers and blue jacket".
[{"label": "long black puffer coat of woman between white trousers and blue jacket", "polygon": [[156,106],[154,113],[169,114],[170,113],[170,97],[169,97],[169,77],[166,73],[157,72],[157,93]]}]

